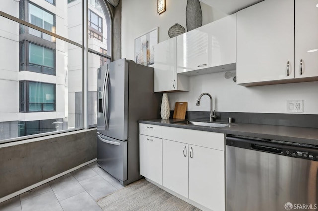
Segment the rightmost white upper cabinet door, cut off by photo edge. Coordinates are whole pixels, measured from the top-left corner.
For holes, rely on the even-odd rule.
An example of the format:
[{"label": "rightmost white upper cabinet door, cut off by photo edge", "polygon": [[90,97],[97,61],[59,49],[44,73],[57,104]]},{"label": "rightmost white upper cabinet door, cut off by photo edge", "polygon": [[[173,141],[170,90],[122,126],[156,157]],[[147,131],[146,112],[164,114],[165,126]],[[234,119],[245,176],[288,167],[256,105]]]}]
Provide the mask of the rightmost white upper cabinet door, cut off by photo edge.
[{"label": "rightmost white upper cabinet door, cut off by photo edge", "polygon": [[317,0],[295,0],[295,78],[318,76]]}]

